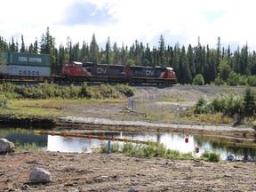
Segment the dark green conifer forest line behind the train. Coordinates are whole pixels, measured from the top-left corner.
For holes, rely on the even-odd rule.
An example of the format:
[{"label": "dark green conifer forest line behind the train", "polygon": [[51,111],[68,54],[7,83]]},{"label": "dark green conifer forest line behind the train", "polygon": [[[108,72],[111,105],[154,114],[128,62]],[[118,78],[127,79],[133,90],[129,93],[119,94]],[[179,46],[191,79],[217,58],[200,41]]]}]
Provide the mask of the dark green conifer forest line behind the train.
[{"label": "dark green conifer forest line behind the train", "polygon": [[176,72],[180,84],[193,84],[195,77],[203,78],[204,84],[249,84],[256,86],[256,52],[249,51],[248,45],[238,46],[236,51],[231,52],[230,47],[221,46],[220,37],[217,38],[216,48],[210,48],[207,44],[191,44],[186,48],[179,43],[174,46],[165,45],[164,36],[159,37],[158,46],[150,48],[148,44],[139,43],[137,40],[128,47],[122,44],[111,44],[108,37],[105,49],[100,49],[96,36],[92,35],[90,43],[73,44],[67,38],[65,45],[56,47],[55,37],[47,28],[40,41],[34,44],[25,44],[21,36],[21,44],[14,41],[7,43],[0,36],[0,52],[29,52],[50,54],[52,60],[52,73],[60,74],[61,67],[68,61],[90,61],[115,65],[137,66],[161,66],[171,67]]}]

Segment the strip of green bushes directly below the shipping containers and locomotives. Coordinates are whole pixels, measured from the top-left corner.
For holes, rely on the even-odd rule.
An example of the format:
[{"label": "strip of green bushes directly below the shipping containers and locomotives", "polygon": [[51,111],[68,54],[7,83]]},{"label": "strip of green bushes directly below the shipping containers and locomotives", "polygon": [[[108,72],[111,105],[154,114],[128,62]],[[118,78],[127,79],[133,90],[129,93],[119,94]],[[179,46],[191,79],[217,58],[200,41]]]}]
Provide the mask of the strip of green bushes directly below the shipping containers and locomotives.
[{"label": "strip of green bushes directly below the shipping containers and locomotives", "polygon": [[118,99],[123,94],[132,96],[134,91],[127,84],[87,86],[84,83],[82,86],[71,84],[69,87],[48,83],[41,83],[37,86],[0,84],[0,103],[3,105],[7,99]]}]

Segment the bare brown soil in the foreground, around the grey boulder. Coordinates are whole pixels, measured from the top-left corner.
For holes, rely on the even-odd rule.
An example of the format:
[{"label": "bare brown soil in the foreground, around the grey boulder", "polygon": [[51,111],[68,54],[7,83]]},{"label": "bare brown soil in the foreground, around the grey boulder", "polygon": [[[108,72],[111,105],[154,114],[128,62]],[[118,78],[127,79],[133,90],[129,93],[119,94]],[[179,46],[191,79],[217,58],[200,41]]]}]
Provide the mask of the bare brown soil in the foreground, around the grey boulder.
[{"label": "bare brown soil in the foreground, around the grey boulder", "polygon": [[[0,191],[254,191],[256,164],[129,157],[120,154],[17,152],[0,156]],[[28,181],[31,170],[52,174]]]}]

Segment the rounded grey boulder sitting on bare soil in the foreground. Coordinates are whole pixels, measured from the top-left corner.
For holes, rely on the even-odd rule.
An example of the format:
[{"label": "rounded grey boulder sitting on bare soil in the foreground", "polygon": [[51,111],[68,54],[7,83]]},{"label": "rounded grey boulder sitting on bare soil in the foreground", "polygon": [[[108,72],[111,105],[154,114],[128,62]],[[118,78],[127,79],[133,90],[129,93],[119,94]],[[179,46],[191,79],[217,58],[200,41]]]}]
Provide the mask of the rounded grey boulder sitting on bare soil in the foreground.
[{"label": "rounded grey boulder sitting on bare soil in the foreground", "polygon": [[42,168],[35,168],[29,175],[29,181],[32,183],[47,183],[52,181],[52,175],[50,172],[45,171]]}]

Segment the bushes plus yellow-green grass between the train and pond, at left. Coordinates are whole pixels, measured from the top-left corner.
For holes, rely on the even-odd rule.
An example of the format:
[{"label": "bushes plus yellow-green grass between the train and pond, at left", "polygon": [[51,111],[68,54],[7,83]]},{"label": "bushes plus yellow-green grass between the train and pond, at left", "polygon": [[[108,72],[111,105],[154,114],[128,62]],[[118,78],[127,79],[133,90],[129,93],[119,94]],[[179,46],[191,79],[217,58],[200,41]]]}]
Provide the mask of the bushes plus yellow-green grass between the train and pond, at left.
[{"label": "bushes plus yellow-green grass between the train and pond, at left", "polygon": [[[11,119],[25,119],[32,116],[53,117],[60,115],[59,103],[124,103],[125,95],[134,91],[127,84],[101,84],[100,86],[81,86],[71,84],[42,83],[36,86],[0,84],[1,114]],[[68,112],[66,115],[69,115]]]}]

